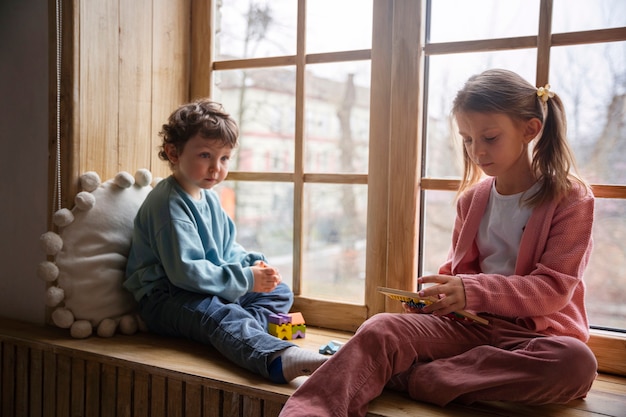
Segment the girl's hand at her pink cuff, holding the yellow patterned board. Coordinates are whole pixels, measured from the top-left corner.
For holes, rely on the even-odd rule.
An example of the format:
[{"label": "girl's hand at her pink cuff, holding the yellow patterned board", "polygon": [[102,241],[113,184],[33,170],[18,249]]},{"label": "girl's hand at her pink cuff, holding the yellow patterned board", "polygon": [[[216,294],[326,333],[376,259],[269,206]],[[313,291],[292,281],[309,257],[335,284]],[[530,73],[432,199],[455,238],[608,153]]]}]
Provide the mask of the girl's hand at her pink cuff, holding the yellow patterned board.
[{"label": "girl's hand at her pink cuff, holding the yellow patterned board", "polygon": [[418,278],[420,284],[438,284],[423,288],[421,297],[439,298],[439,301],[424,307],[424,313],[445,316],[465,308],[465,287],[460,277],[453,275],[428,275]]}]

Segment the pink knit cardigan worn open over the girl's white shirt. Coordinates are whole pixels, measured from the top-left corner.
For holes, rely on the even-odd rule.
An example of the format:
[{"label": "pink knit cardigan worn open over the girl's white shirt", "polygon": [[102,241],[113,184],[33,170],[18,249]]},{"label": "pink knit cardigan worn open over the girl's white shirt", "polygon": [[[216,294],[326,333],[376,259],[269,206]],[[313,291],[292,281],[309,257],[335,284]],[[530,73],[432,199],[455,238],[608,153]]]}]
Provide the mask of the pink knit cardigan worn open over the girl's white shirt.
[{"label": "pink knit cardigan worn open over the girl's white shirt", "polygon": [[474,239],[493,181],[481,181],[460,197],[452,248],[439,273],[463,279],[466,310],[513,318],[532,331],[586,342],[582,276],[592,248],[593,194],[575,186],[567,198],[535,208],[522,235],[515,275],[483,274]]}]

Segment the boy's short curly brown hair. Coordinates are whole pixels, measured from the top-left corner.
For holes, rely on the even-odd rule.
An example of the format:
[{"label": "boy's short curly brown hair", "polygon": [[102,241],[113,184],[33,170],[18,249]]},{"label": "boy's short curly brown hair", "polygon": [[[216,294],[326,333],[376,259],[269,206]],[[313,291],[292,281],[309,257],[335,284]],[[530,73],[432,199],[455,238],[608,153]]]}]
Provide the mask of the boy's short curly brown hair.
[{"label": "boy's short curly brown hair", "polygon": [[239,128],[235,119],[226,113],[220,103],[203,98],[183,104],[170,115],[159,132],[163,138],[159,158],[169,161],[165,146],[172,144],[180,153],[187,141],[196,134],[218,140],[224,146],[235,148],[238,145]]}]

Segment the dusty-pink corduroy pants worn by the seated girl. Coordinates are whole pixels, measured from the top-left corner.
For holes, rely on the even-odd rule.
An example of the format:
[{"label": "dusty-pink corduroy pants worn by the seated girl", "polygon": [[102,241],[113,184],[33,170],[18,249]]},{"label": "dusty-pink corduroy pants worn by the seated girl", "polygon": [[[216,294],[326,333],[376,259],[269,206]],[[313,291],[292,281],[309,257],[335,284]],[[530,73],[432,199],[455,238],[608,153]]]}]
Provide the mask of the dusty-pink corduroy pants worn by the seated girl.
[{"label": "dusty-pink corduroy pants worn by the seated girl", "polygon": [[378,314],[295,391],[280,416],[365,416],[369,402],[402,372],[411,398],[441,406],[566,403],[587,394],[597,361],[585,343],[487,318],[489,325]]}]

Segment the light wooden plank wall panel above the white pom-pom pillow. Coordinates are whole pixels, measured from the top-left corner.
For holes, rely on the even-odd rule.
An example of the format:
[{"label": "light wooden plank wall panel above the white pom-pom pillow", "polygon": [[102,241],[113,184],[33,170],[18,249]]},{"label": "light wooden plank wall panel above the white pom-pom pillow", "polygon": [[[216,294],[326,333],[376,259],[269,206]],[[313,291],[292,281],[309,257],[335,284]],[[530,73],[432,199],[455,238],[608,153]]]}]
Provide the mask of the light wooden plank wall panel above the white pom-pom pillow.
[{"label": "light wooden plank wall panel above the white pom-pom pillow", "polygon": [[[71,7],[69,7],[71,6]],[[158,136],[172,110],[189,100],[190,0],[79,0],[68,5],[73,52],[63,62],[63,207],[78,175],[104,181],[119,171],[170,174]],[[69,74],[69,79],[67,78]],[[68,198],[67,195],[70,197]]]}]

